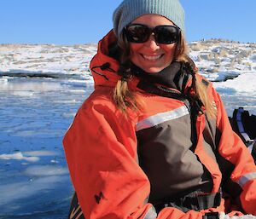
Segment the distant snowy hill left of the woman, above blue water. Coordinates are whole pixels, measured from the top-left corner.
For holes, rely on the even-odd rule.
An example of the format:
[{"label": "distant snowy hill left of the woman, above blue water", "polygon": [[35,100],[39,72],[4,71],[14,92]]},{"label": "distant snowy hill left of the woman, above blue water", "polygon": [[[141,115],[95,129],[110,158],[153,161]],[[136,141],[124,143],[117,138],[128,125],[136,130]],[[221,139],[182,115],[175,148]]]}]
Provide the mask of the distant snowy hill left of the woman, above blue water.
[{"label": "distant snowy hill left of the woman, above blue water", "polygon": [[2,76],[46,78],[90,77],[89,63],[96,45],[58,46],[49,44],[0,45]]}]

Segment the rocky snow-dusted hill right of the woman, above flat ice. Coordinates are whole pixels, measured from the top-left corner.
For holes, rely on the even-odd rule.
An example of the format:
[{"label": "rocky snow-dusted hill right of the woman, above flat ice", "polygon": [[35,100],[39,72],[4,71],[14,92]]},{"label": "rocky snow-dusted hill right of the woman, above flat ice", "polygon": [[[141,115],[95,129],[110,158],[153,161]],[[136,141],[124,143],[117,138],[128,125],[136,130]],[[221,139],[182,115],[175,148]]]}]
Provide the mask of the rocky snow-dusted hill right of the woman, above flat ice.
[{"label": "rocky snow-dusted hill right of the woman, above flat ice", "polygon": [[256,72],[256,43],[212,39],[189,44],[190,56],[211,81]]}]

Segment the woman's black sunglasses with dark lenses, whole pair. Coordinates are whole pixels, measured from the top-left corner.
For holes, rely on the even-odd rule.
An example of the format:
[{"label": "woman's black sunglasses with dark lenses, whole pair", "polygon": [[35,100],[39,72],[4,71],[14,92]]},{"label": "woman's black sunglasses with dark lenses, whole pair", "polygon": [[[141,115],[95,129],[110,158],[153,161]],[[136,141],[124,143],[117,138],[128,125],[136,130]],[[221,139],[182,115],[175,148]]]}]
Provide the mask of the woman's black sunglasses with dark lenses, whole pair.
[{"label": "woman's black sunglasses with dark lenses, whole pair", "polygon": [[145,43],[154,33],[156,43],[176,43],[180,37],[180,29],[177,26],[161,25],[150,28],[142,24],[131,24],[125,26],[125,36],[131,43]]}]

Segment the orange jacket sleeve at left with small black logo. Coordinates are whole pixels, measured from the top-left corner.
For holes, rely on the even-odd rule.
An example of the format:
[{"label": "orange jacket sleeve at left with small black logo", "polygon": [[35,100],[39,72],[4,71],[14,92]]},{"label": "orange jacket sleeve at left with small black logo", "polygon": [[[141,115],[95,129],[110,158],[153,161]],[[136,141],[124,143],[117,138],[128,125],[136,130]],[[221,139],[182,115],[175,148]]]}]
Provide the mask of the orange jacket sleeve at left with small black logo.
[{"label": "orange jacket sleeve at left with small black logo", "polygon": [[175,208],[165,208],[157,216],[147,203],[148,177],[137,164],[134,124],[111,106],[85,103],[63,145],[85,218],[201,219],[200,212],[185,214]]}]

